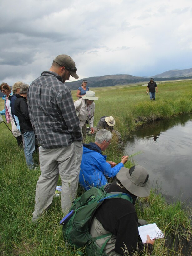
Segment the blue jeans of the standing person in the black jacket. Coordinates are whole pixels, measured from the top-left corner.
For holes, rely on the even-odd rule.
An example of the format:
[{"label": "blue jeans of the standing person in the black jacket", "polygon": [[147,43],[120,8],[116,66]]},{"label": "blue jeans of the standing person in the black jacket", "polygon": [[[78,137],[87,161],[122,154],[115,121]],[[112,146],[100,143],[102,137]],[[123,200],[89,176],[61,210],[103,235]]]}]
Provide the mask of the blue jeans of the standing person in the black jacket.
[{"label": "blue jeans of the standing person in the black jacket", "polygon": [[34,131],[26,131],[23,133],[25,140],[25,159],[29,169],[34,168],[33,152],[35,151],[35,134]]}]

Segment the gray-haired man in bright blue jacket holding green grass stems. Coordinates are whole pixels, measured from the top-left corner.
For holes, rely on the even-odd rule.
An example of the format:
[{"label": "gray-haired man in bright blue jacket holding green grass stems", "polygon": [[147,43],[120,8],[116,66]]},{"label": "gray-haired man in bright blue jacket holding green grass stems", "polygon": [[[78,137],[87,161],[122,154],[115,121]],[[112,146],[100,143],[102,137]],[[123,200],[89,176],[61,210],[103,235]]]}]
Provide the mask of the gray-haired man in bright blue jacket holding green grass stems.
[{"label": "gray-haired man in bright blue jacket holding green grass stems", "polygon": [[[96,133],[95,143],[83,143],[83,156],[80,166],[79,183],[85,189],[101,187],[107,183],[106,177],[115,177],[127,162],[128,156],[123,156],[116,166],[112,161],[106,161],[107,156],[102,155],[110,144],[112,133],[101,129]],[[113,167],[114,166],[114,167]]]}]

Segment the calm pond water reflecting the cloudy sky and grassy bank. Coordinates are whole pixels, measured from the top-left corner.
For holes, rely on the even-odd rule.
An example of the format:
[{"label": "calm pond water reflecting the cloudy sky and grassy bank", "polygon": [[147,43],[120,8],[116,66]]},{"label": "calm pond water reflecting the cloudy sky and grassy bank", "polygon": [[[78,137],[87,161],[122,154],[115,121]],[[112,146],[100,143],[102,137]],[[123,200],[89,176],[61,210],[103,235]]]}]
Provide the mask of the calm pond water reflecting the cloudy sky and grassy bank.
[{"label": "calm pond water reflecting the cloudy sky and grassy bank", "polygon": [[125,146],[125,155],[143,150],[135,161],[149,170],[150,180],[170,197],[192,201],[192,115],[142,125]]}]

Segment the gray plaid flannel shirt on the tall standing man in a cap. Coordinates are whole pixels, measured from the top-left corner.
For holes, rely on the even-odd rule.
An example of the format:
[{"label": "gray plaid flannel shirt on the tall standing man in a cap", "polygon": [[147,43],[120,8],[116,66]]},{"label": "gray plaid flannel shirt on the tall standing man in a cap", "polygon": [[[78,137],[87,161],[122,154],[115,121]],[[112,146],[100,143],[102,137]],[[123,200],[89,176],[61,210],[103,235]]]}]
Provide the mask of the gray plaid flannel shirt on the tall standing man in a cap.
[{"label": "gray plaid flannel shirt on the tall standing man in a cap", "polygon": [[43,148],[60,148],[81,141],[79,119],[70,89],[62,77],[44,71],[27,92],[29,116]]}]

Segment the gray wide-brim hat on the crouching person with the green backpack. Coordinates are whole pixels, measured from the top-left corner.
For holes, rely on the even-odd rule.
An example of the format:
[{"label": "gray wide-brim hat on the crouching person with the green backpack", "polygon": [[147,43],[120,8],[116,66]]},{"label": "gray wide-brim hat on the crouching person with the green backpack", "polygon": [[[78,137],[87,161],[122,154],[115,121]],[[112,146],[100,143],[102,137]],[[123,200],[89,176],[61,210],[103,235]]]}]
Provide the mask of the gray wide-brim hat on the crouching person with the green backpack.
[{"label": "gray wide-brim hat on the crouching person with the green backpack", "polygon": [[117,179],[131,194],[139,197],[150,194],[149,174],[140,165],[134,165],[130,169],[122,167],[117,174]]}]

